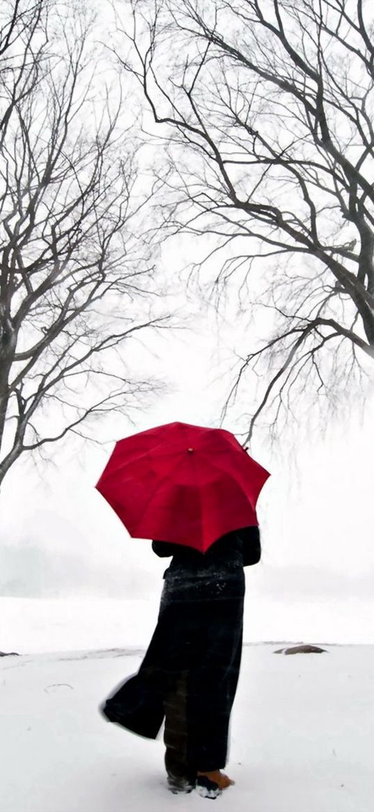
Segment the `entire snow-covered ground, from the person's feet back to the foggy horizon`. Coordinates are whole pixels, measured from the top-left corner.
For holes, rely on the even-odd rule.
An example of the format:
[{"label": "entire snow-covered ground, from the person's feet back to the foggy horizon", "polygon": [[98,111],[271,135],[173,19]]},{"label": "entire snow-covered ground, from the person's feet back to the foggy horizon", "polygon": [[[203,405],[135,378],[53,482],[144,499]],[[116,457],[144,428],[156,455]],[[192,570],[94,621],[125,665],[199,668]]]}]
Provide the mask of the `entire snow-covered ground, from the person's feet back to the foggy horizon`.
[{"label": "entire snow-covered ground, from the person's feet back to the foggy horizon", "polygon": [[[372,812],[374,646],[348,645],[350,603],[247,598],[227,765],[236,784],[214,809]],[[167,792],[162,736],[143,740],[97,711],[139,666],[158,600],[157,590],[148,600],[0,598],[0,649],[21,654],[0,658],[1,812],[207,812],[196,793]],[[372,643],[372,607],[362,604],[360,624],[355,610],[357,640]],[[284,656],[273,653],[284,642],[261,635],[346,645]]]}]

